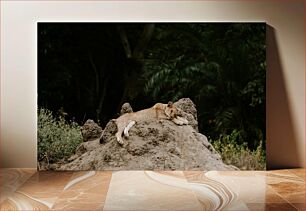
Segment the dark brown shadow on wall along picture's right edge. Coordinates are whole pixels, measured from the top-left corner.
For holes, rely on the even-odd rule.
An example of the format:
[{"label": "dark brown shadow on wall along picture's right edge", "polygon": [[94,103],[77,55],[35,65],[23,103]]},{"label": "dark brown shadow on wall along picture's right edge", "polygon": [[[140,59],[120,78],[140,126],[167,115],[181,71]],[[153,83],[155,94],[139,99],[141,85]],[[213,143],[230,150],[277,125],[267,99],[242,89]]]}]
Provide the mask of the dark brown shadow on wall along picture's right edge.
[{"label": "dark brown shadow on wall along picture's right edge", "polygon": [[268,170],[294,168],[297,167],[296,163],[299,163],[295,128],[276,35],[276,29],[267,25],[266,146]]}]

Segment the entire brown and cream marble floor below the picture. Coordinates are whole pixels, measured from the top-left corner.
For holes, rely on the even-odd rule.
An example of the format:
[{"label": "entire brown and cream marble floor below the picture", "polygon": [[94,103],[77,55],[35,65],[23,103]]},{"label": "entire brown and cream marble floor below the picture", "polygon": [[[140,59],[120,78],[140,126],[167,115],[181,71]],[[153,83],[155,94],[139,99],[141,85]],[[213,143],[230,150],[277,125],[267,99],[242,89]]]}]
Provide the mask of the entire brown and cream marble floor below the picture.
[{"label": "entire brown and cream marble floor below the picture", "polygon": [[305,169],[0,169],[1,210],[306,210]]}]

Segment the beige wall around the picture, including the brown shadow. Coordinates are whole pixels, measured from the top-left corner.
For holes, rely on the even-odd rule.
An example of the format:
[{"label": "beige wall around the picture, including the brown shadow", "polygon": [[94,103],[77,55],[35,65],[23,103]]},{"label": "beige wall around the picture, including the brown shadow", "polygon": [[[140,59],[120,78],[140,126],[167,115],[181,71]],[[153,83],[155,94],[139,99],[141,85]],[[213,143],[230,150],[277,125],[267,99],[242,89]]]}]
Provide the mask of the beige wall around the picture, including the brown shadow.
[{"label": "beige wall around the picture, including the brown shadow", "polygon": [[267,167],[305,166],[303,1],[2,1],[1,167],[36,168],[37,21],[265,21]]}]

